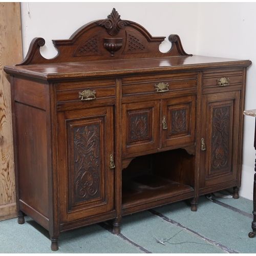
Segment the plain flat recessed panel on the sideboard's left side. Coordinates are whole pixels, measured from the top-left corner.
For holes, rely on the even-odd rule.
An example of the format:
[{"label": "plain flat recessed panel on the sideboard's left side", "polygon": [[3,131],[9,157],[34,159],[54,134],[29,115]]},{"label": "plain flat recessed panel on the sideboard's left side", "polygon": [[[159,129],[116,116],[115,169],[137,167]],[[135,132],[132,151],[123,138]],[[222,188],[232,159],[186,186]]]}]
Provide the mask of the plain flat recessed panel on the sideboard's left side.
[{"label": "plain flat recessed panel on the sideboard's left side", "polygon": [[19,200],[48,217],[46,112],[16,102]]}]

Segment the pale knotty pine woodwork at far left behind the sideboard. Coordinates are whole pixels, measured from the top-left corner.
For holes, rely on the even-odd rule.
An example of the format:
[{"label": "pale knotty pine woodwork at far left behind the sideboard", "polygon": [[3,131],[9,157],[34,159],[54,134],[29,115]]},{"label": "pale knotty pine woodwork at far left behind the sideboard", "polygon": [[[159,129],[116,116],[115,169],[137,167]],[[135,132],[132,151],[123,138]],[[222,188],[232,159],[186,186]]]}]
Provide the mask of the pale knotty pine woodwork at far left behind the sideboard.
[{"label": "pale knotty pine woodwork at far left behind the sideboard", "polygon": [[20,61],[20,4],[0,3],[0,220],[16,216],[11,92],[9,75],[3,68]]}]

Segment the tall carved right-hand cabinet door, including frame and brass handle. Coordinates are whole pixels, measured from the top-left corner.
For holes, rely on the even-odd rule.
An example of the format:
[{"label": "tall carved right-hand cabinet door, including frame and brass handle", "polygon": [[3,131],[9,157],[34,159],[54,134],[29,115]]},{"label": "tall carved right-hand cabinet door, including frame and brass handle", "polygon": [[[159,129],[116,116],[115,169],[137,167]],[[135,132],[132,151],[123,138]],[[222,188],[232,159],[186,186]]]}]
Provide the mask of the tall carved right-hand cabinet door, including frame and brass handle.
[{"label": "tall carved right-hand cabinet door, including frame and brass handle", "polygon": [[238,173],[240,91],[203,95],[201,111],[200,188],[231,187]]}]

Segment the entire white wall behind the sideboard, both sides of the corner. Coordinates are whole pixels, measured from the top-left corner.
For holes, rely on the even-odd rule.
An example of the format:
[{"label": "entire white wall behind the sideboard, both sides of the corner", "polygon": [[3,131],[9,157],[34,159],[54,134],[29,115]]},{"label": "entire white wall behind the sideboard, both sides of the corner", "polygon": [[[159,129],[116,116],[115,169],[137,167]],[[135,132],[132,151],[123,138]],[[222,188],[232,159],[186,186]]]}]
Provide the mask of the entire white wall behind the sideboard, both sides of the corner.
[{"label": "entire white wall behind the sideboard, both sides of the corner", "polygon": [[[113,8],[121,19],[132,20],[153,36],[178,34],[187,53],[250,59],[245,109],[256,109],[256,3],[27,3],[22,5],[23,49],[43,37],[41,54],[54,57],[52,39],[67,39],[76,29],[96,19],[106,18]],[[166,39],[160,50],[169,50]],[[252,199],[255,152],[255,118],[245,117],[244,160],[240,195]]]}]

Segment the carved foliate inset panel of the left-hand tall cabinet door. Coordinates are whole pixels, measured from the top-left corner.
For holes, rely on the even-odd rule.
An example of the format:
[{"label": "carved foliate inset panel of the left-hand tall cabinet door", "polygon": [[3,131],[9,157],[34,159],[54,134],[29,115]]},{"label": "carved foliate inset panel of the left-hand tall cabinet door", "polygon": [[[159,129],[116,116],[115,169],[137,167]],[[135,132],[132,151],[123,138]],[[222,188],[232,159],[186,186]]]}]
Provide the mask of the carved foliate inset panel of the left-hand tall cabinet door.
[{"label": "carved foliate inset panel of the left-hand tall cabinet door", "polygon": [[99,124],[80,126],[74,136],[74,201],[99,197]]}]

